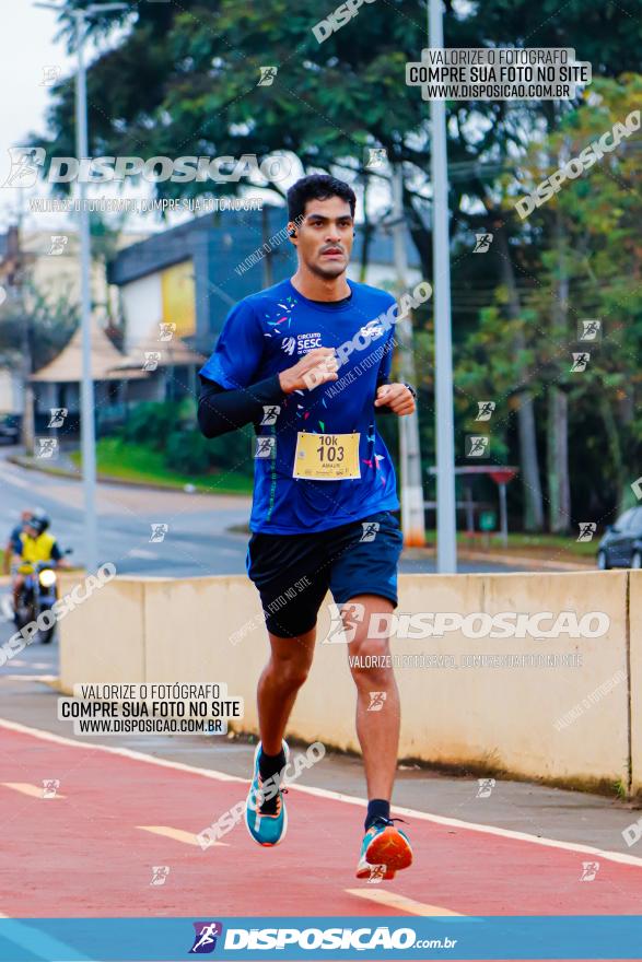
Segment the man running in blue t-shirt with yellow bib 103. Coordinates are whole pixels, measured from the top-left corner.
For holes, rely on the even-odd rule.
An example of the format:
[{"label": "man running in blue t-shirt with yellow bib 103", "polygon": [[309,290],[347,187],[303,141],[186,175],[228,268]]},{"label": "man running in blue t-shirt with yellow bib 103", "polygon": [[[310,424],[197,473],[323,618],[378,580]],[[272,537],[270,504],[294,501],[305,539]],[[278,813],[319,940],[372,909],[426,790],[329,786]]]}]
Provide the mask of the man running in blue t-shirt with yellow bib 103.
[{"label": "man running in blue t-shirt with yellow bib 103", "polygon": [[[260,593],[270,657],[258,682],[249,834],[266,846],[285,835],[283,793],[273,785],[288,761],[283,736],[329,588],[349,631],[349,653],[360,656],[351,671],[369,801],[357,876],[385,865],[390,879],[412,861],[407,836],[390,819],[399,694],[388,640],[370,638],[367,626],[371,615],[397,606],[402,537],[393,514],[395,472],[375,413],[412,413],[415,390],[389,383],[394,325],[382,318],[395,298],[346,277],[354,206],[349,185],[327,175],[290,188],[288,233],[297,270],[232,308],[199,372],[198,418],[206,437],[249,423],[257,434],[247,573]],[[371,693],[381,709],[369,711]],[[271,790],[261,794],[268,779]]]}]

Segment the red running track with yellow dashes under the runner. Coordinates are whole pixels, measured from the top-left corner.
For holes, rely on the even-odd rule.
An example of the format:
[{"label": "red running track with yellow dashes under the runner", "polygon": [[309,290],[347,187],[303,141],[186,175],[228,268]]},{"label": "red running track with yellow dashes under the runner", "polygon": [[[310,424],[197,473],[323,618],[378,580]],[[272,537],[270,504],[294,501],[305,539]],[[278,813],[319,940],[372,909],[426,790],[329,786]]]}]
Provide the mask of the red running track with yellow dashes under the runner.
[{"label": "red running track with yellow dashes under the runner", "polygon": [[[0,784],[0,913],[11,917],[196,918],[214,907],[223,917],[412,914],[402,901],[375,901],[378,893],[464,915],[642,912],[642,861],[621,864],[420,813],[405,814],[412,868],[392,882],[358,881],[363,809],[296,786],[287,797],[282,845],[257,846],[242,822],[225,835],[226,845],[203,852],[138,826],[200,832],[245,796],[246,782],[45,736],[0,726],[0,783],[39,787],[57,778],[65,796],[30,797]],[[600,863],[592,882],[580,881],[586,860]],[[152,866],[170,867],[165,884],[150,884]]]}]

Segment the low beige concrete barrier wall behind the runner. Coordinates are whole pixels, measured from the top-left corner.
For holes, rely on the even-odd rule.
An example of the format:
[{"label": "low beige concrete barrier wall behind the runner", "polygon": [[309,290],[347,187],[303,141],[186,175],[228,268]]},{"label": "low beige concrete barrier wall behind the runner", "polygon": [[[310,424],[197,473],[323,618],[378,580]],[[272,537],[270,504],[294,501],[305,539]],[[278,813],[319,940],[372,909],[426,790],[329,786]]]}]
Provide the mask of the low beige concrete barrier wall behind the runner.
[{"label": "low beige concrete barrier wall behind the runner", "polygon": [[[65,575],[62,590],[73,583]],[[594,638],[471,638],[460,631],[395,638],[396,655],[452,656],[456,666],[397,668],[401,756],[642,788],[642,646],[630,630],[642,614],[642,572],[402,575],[399,588],[397,614],[600,611],[610,622]],[[348,645],[322,641],[330,603],[328,596],[289,731],[358,751]],[[243,729],[256,731],[256,682],[268,652],[260,614],[256,590],[242,576],[115,578],[60,623],[61,687],[225,682],[245,700]],[[246,633],[234,644],[242,626]],[[580,655],[582,667],[464,665],[466,656],[506,654]]]}]

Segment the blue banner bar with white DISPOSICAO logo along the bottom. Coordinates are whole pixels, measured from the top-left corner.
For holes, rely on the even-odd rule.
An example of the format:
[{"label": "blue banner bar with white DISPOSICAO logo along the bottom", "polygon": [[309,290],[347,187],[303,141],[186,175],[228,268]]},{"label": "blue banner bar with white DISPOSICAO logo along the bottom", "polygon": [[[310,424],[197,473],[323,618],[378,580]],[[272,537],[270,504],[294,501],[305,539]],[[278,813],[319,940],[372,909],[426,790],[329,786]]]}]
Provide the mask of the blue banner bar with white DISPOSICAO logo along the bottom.
[{"label": "blue banner bar with white DISPOSICAO logo along the bottom", "polygon": [[0,962],[642,959],[642,916],[0,918]]}]

